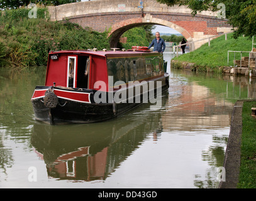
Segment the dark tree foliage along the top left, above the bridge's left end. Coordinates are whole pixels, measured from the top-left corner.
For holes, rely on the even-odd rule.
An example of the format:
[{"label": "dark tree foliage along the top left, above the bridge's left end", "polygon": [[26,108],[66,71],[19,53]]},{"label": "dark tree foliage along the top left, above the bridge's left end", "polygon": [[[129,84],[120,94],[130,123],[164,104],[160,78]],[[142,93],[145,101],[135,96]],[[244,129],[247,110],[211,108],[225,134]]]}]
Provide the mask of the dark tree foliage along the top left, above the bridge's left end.
[{"label": "dark tree foliage along the top left, above the bridge's left end", "polygon": [[80,2],[81,0],[0,0],[0,9],[16,9],[19,6],[27,6],[30,3],[58,6],[60,4],[68,4]]}]

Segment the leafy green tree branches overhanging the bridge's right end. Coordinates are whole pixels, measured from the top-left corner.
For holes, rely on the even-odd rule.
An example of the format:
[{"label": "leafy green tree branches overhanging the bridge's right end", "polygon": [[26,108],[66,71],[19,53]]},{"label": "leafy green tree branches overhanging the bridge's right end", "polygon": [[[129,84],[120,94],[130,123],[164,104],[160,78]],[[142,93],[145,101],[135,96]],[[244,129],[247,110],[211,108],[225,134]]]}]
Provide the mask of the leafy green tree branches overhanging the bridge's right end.
[{"label": "leafy green tree branches overhanging the bridge's right end", "polygon": [[[168,6],[186,5],[195,15],[201,11],[218,11],[224,7],[225,18],[235,30],[234,38],[256,35],[256,0],[157,0]],[[221,12],[222,13],[222,12]]]}]

